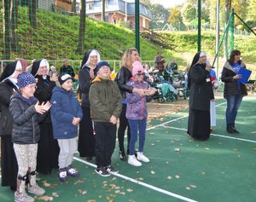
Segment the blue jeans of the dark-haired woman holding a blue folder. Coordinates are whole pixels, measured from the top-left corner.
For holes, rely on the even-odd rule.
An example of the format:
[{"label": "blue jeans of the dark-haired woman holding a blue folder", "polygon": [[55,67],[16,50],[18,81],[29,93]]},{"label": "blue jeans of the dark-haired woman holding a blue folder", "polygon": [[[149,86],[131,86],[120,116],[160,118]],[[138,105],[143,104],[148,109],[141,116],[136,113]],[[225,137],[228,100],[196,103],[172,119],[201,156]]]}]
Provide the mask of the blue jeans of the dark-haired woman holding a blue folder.
[{"label": "blue jeans of the dark-haired woman holding a blue folder", "polygon": [[242,95],[227,96],[226,124],[235,124],[236,114],[240,107]]}]

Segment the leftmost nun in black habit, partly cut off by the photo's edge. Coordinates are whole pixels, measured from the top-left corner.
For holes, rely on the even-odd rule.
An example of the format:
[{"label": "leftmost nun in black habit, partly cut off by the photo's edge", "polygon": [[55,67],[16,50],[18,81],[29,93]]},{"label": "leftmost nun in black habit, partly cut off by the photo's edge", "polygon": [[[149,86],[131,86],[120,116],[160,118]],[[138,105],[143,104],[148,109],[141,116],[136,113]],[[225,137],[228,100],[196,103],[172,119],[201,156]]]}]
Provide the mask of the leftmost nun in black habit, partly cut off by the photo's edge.
[{"label": "leftmost nun in black habit, partly cut off by the photo's edge", "polygon": [[16,190],[18,164],[12,142],[13,117],[9,112],[10,97],[18,91],[17,77],[22,72],[20,61],[9,63],[0,77],[1,185]]}]

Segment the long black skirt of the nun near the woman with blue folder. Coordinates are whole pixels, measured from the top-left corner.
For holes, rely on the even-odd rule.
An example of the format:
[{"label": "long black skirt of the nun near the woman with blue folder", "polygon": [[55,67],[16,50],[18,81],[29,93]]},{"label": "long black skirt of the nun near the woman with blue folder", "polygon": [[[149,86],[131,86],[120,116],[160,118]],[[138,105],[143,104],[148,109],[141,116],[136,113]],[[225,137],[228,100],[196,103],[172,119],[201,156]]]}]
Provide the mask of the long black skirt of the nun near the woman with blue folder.
[{"label": "long black skirt of the nun near the woman with blue folder", "polygon": [[189,136],[199,140],[207,140],[211,133],[210,127],[209,111],[189,109]]}]

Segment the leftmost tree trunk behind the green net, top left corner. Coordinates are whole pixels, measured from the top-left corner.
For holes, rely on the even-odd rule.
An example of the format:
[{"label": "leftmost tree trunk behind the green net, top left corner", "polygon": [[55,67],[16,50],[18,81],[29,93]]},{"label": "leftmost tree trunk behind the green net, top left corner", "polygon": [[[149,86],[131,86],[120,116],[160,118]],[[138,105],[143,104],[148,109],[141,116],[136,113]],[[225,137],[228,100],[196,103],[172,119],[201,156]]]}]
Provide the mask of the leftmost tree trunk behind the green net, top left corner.
[{"label": "leftmost tree trunk behind the green net, top left corner", "polygon": [[9,60],[11,53],[10,3],[9,0],[4,0],[3,3],[3,59]]}]

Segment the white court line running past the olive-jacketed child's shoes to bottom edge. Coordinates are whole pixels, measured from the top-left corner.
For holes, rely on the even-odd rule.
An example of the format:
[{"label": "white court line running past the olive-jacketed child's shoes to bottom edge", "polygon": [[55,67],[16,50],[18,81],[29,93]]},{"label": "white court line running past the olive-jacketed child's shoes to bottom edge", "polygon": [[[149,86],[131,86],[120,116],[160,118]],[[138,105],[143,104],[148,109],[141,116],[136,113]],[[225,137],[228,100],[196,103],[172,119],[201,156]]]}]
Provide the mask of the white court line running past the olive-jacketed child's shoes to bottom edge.
[{"label": "white court line running past the olive-jacketed child's shoes to bottom edge", "polygon": [[[79,161],[79,162],[81,162],[81,163],[83,163],[83,164],[88,164],[88,165],[90,165],[91,167],[96,168],[96,164],[91,164],[91,163],[89,163],[89,162],[87,162],[87,161],[85,161],[85,160],[83,160],[83,159],[79,159],[79,158],[77,158],[77,157],[73,157],[73,159],[75,159],[75,160],[77,160],[77,161]],[[183,201],[197,202],[196,200],[183,197],[183,196],[178,195],[178,194],[176,194],[176,193],[168,192],[168,191],[166,191],[165,189],[157,188],[157,187],[154,187],[154,186],[152,186],[152,185],[150,185],[150,184],[147,184],[147,183],[145,183],[145,182],[137,181],[137,180],[135,180],[135,179],[132,179],[132,178],[129,177],[129,176],[124,176],[124,175],[121,175],[121,174],[119,174],[119,173],[111,173],[111,174],[112,174],[113,176],[119,176],[120,178],[123,178],[123,179],[125,179],[125,180],[127,180],[127,181],[130,181],[130,182],[133,182],[133,183],[136,183],[136,184],[141,185],[141,186],[143,186],[143,187],[153,189],[154,191],[157,191],[157,192],[160,192],[160,193],[165,193],[166,195],[172,196],[172,197],[177,198],[177,199],[182,199]]]}]

